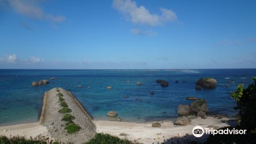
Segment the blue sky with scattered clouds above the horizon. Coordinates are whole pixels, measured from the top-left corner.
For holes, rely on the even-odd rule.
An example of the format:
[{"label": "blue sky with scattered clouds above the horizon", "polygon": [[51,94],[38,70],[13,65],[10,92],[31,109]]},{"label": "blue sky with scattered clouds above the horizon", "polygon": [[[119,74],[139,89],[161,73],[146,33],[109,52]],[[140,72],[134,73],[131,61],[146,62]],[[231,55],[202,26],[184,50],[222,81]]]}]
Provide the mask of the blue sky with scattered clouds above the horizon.
[{"label": "blue sky with scattered clouds above the horizon", "polygon": [[0,68],[256,68],[256,1],[0,0]]}]

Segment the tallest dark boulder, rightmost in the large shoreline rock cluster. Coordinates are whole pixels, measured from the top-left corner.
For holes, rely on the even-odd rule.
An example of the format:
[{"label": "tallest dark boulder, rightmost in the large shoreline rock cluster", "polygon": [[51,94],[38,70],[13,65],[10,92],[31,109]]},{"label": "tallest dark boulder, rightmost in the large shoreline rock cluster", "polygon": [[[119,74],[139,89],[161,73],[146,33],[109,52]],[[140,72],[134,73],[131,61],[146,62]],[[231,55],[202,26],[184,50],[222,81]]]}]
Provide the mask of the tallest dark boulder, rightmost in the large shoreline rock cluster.
[{"label": "tallest dark boulder, rightmost in the large shoreline rock cluster", "polygon": [[204,111],[207,113],[209,111],[206,101],[200,98],[191,103],[190,108],[195,113],[197,113],[198,111]]}]

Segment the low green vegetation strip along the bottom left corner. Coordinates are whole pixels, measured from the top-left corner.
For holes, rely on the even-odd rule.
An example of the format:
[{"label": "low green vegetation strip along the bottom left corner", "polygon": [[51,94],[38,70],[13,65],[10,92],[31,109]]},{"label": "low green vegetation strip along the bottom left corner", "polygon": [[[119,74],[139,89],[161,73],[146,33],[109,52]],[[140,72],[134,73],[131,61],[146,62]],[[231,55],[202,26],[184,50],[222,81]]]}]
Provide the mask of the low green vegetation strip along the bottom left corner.
[{"label": "low green vegetation strip along the bottom left corner", "polygon": [[0,144],[59,144],[59,142],[54,142],[52,139],[41,135],[34,138],[26,138],[19,135],[11,137],[0,135]]}]

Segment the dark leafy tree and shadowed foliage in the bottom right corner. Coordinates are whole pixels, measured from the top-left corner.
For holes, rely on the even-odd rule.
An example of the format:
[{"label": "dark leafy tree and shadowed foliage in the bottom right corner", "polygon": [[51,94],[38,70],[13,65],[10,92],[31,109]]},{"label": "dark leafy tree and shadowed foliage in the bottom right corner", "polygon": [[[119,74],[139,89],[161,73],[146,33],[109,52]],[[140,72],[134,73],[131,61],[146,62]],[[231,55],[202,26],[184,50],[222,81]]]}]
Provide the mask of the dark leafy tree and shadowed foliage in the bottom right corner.
[{"label": "dark leafy tree and shadowed foliage in the bottom right corner", "polygon": [[[206,144],[256,144],[256,77],[254,83],[244,89],[238,85],[236,92],[231,92],[231,98],[236,101],[238,111],[237,130],[247,130],[245,135],[210,135]],[[222,129],[233,129],[224,127]]]}]

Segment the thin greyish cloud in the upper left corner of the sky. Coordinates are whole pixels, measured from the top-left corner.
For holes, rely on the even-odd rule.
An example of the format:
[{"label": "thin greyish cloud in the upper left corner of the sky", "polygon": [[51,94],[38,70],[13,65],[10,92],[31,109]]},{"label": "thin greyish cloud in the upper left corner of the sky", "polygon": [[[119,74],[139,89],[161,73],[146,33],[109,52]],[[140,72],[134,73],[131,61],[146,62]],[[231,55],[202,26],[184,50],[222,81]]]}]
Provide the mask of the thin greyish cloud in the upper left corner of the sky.
[{"label": "thin greyish cloud in the upper left corner of the sky", "polygon": [[53,16],[51,13],[45,13],[40,8],[37,0],[8,0],[11,7],[20,14],[26,15],[33,19],[50,20],[53,22],[62,22],[66,20],[65,16]]}]

